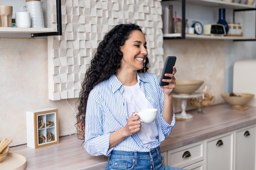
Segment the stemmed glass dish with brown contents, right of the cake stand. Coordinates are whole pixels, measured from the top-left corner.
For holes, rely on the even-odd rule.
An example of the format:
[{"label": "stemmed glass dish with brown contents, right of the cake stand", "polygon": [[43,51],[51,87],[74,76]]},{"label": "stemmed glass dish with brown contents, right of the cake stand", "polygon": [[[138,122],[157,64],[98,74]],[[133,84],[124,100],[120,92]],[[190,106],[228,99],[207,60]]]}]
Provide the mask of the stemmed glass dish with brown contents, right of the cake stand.
[{"label": "stemmed glass dish with brown contents, right of the cake stand", "polygon": [[213,88],[210,84],[204,84],[199,88],[202,96],[188,99],[188,103],[197,107],[196,113],[205,113],[203,107],[210,106],[215,100]]}]

